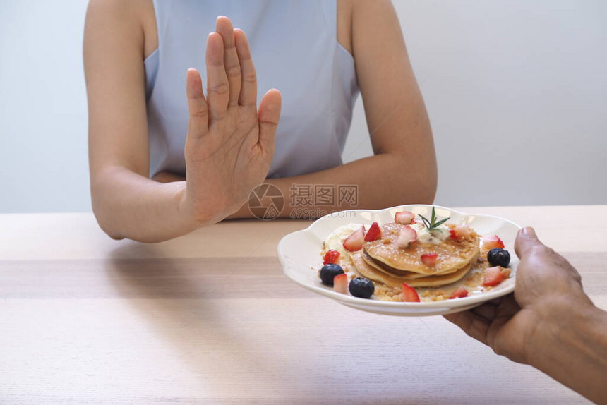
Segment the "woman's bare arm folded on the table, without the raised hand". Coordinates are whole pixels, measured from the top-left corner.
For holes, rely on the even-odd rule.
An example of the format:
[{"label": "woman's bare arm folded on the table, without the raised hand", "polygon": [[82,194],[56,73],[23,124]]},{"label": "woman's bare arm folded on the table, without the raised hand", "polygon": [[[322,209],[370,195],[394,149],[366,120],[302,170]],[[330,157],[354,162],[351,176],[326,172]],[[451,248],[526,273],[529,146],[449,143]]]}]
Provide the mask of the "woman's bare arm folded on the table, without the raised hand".
[{"label": "woman's bare arm folded on the table, without the raised hand", "polygon": [[[437,171],[432,131],[395,10],[389,0],[338,1],[337,35],[352,52],[374,156],[313,174],[267,179],[285,198],[281,217],[311,216],[354,206],[291,205],[298,188],[356,185],[357,205],[381,208],[432,203]],[[350,34],[350,35],[348,35]],[[312,187],[313,188],[313,187]],[[301,202],[301,199],[300,199]],[[248,207],[232,215],[251,217]]]}]

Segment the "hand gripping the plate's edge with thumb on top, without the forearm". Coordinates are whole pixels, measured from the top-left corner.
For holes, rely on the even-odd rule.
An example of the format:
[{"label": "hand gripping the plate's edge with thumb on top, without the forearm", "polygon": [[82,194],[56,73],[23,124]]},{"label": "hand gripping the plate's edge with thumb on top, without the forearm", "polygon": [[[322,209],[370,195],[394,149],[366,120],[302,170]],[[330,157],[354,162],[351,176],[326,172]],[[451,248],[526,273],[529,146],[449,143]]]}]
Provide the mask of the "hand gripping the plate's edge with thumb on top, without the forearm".
[{"label": "hand gripping the plate's edge with thumb on top, without the forearm", "polygon": [[461,313],[445,315],[474,339],[512,361],[530,363],[541,328],[567,323],[571,306],[592,306],[577,270],[541,243],[533,228],[519,231],[515,293]]}]

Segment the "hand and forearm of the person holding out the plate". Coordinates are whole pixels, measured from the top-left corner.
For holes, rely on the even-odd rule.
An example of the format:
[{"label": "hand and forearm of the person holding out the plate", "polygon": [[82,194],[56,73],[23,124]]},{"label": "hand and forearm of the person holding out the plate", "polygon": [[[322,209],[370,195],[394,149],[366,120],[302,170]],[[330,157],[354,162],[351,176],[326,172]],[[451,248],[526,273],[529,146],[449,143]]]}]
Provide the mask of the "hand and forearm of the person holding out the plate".
[{"label": "hand and forearm of the person holding out the plate", "polygon": [[519,231],[515,249],[521,261],[514,295],[445,318],[495,353],[607,404],[607,313],[584,294],[577,270],[534,229]]}]

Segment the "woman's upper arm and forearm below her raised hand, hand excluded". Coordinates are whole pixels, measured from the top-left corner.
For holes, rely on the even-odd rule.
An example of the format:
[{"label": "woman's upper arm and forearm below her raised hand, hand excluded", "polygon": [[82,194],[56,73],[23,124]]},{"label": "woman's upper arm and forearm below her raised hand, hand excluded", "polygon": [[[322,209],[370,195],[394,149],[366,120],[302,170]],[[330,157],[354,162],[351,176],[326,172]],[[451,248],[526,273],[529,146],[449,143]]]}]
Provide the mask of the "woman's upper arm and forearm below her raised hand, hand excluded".
[{"label": "woman's upper arm and forearm below her raised hand, hand excluded", "polygon": [[179,210],[184,183],[148,179],[141,1],[91,1],[84,35],[92,207],[112,238],[157,241],[194,222]]}]

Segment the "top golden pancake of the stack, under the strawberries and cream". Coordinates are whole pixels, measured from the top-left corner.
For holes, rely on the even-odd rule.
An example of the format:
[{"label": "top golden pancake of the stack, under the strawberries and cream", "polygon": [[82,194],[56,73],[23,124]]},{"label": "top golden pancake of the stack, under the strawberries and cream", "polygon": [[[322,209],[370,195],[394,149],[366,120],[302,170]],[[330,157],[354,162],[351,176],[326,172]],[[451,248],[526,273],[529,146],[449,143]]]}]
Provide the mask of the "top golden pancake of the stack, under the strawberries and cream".
[{"label": "top golden pancake of the stack, under the strawberries and cream", "polygon": [[[388,268],[423,275],[449,274],[459,272],[479,254],[479,235],[471,232],[467,238],[454,240],[446,238],[441,243],[411,243],[407,248],[396,244],[400,231],[405,225],[389,222],[380,227],[382,238],[363,243],[366,253]],[[389,241],[386,241],[388,239]],[[421,255],[437,253],[438,260],[433,266],[421,262]],[[383,267],[385,270],[386,267]],[[459,273],[458,273],[459,274]]]}]

